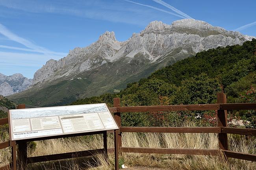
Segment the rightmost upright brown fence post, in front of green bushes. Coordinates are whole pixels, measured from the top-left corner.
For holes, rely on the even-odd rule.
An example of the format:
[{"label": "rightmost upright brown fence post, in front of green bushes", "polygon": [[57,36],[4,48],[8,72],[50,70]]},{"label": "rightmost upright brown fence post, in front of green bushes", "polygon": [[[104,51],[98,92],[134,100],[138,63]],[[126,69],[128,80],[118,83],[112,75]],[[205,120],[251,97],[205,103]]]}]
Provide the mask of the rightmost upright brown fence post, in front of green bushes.
[{"label": "rightmost upright brown fence post, in front of green bushes", "polygon": [[[226,103],[226,94],[217,93],[217,103]],[[219,127],[227,127],[227,111],[226,110],[218,110],[218,126]],[[219,135],[219,148],[221,150],[228,150],[228,136],[226,133],[218,133]]]}]

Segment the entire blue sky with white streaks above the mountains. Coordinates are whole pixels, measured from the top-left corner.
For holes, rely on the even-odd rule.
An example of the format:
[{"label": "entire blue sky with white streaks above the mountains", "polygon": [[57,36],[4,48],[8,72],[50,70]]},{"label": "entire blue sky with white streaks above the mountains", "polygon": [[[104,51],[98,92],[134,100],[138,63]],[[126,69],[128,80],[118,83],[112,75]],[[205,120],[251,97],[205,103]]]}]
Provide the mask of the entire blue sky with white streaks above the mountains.
[{"label": "entire blue sky with white streaks above the mountains", "polygon": [[107,30],[125,41],[153,20],[194,18],[256,36],[255,7],[255,0],[0,0],[0,73],[33,78],[49,59]]}]

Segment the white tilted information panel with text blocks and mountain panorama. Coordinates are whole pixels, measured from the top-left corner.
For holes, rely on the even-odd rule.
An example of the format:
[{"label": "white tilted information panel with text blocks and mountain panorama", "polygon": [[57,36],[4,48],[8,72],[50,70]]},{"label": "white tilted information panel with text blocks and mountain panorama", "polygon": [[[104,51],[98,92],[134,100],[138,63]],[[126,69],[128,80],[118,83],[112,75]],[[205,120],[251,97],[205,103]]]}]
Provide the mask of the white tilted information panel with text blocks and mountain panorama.
[{"label": "white tilted information panel with text blocks and mountain panorama", "polygon": [[105,103],[9,110],[11,139],[119,129]]}]

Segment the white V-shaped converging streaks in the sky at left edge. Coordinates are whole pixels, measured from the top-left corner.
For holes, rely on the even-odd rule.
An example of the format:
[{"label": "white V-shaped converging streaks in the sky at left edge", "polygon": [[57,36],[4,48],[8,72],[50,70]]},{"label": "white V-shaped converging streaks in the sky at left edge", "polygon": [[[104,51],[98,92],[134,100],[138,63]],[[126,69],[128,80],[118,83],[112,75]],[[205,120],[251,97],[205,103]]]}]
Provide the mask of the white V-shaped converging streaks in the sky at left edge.
[{"label": "white V-shaped converging streaks in the sky at left edge", "polygon": [[[38,53],[43,53],[43,54],[60,54],[63,55],[64,53],[56,53],[56,52],[52,52],[44,47],[41,46],[37,46],[35,45],[33,42],[30,42],[27,39],[24,39],[22,37],[19,37],[18,35],[16,35],[15,33],[12,33],[10,30],[8,30],[4,25],[2,25],[0,23],[0,34],[4,35],[5,37],[7,37],[9,40],[11,41],[15,41],[18,42],[30,49],[25,49],[25,48],[18,48],[18,47],[9,47],[9,46],[2,46],[1,48],[9,48],[9,49],[15,49],[15,50],[23,50],[23,51],[31,51],[31,52],[38,52]],[[64,57],[64,56],[62,56]]]}]

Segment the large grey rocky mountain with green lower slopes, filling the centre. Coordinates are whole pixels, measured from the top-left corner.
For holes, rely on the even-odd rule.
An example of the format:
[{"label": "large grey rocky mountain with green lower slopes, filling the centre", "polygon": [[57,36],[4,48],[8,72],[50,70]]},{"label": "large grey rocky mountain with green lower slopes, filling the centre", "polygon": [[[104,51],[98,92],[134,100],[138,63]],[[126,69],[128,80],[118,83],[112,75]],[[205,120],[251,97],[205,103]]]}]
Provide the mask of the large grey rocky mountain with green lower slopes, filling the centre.
[{"label": "large grey rocky mountain with green lower slopes, filling the centre", "polygon": [[70,50],[59,61],[47,61],[35,72],[30,89],[8,98],[16,103],[49,106],[119,92],[127,83],[197,52],[242,44],[252,38],[194,19],[177,20],[171,25],[153,21],[124,42],[117,41],[114,32],[106,31],[90,46]]}]

